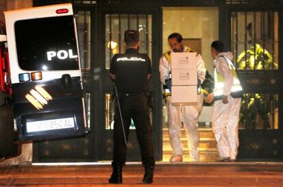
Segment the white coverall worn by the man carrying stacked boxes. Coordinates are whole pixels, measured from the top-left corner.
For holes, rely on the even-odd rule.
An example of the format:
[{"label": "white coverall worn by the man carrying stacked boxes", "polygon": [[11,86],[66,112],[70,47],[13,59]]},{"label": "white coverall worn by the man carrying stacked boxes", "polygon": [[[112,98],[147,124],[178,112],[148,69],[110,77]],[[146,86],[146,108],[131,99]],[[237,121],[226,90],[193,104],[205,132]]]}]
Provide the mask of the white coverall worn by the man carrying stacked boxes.
[{"label": "white coverall worn by the man carrying stacked boxes", "polygon": [[[186,52],[188,50],[188,47],[183,46],[183,52]],[[174,53],[174,51],[172,50],[170,50],[170,52]],[[202,56],[198,53],[196,53],[196,62],[198,70],[198,79],[200,79],[200,82],[202,83],[205,79],[206,68],[204,67],[204,60],[202,60]],[[160,58],[159,71],[161,82],[165,84],[165,79],[170,78],[171,64],[170,62],[168,62],[164,54]],[[203,93],[198,95],[198,105],[187,105],[181,107],[172,105],[171,97],[168,97],[168,126],[173,155],[183,155],[183,145],[180,140],[180,108],[182,108],[183,121],[184,127],[186,129],[190,157],[195,161],[200,160],[200,155],[198,153],[198,114],[200,110],[202,110],[202,102]]]}]

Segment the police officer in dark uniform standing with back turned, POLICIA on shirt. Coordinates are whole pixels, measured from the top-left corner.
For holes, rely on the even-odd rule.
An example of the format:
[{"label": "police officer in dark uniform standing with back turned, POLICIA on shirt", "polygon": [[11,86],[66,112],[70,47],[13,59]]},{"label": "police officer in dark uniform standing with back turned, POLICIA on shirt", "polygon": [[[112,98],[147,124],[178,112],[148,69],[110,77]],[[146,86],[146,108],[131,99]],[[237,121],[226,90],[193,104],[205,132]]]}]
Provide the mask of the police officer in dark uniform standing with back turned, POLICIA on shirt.
[{"label": "police officer in dark uniform standing with back turned, POLICIA on shirt", "polygon": [[[141,148],[142,164],[144,164],[145,169],[142,182],[150,184],[152,183],[154,170],[152,129],[146,94],[151,76],[150,58],[148,58],[148,55],[137,51],[140,42],[139,32],[136,30],[126,30],[124,32],[124,42],[127,47],[126,53],[113,56],[109,72],[110,78],[116,84],[118,102],[120,103],[120,111],[116,107],[114,117],[113,173],[109,183],[122,183],[122,166],[126,162],[125,140],[128,139],[129,127],[131,119],[133,119],[137,140]],[[122,125],[124,125],[124,129]]]}]

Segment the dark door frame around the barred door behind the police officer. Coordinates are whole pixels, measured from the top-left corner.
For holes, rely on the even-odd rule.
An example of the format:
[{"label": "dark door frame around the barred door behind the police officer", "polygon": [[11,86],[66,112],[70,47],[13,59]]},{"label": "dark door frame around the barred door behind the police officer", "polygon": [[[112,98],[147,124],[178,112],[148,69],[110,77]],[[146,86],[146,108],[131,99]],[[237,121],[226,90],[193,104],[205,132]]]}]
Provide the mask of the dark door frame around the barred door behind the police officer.
[{"label": "dark door frame around the barred door behind the police officer", "polygon": [[[97,108],[98,112],[98,121],[100,123],[97,126],[96,136],[98,138],[98,160],[111,160],[112,151],[113,151],[113,130],[105,130],[105,94],[111,93],[113,91],[113,83],[109,79],[108,71],[105,69],[105,15],[106,14],[151,14],[152,15],[152,77],[150,80],[150,90],[153,90],[153,108],[152,108],[152,143],[154,145],[154,158],[155,160],[162,160],[162,110],[160,110],[162,105],[162,91],[161,83],[159,82],[159,54],[161,49],[159,49],[161,43],[161,28],[160,25],[154,24],[160,22],[161,11],[159,8],[143,8],[140,7],[100,7],[98,10],[100,19],[98,25],[101,25],[98,29],[98,38],[100,38],[98,53],[102,54],[97,59],[99,61],[98,66],[101,69],[100,71],[100,105],[94,107]],[[99,108],[99,109],[98,109]],[[132,133],[130,130],[129,134],[130,144],[133,147],[136,147],[137,140],[135,133]],[[131,142],[133,141],[133,142]],[[130,145],[130,147],[131,147]],[[128,146],[129,147],[129,146]],[[139,147],[137,147],[139,150]],[[131,149],[131,148],[130,148]],[[134,153],[133,153],[134,152]],[[107,155],[107,153],[111,153]],[[140,153],[137,149],[131,150],[130,154],[127,154],[127,161],[139,161]]]}]

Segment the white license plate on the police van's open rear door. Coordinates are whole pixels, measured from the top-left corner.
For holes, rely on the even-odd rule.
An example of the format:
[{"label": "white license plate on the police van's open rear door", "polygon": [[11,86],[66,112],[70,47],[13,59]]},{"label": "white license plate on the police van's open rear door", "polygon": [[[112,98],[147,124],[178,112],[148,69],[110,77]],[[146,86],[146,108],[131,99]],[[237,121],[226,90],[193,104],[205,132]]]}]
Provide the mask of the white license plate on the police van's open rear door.
[{"label": "white license plate on the police van's open rear door", "polygon": [[75,123],[73,118],[27,122],[27,132],[42,132],[56,129],[69,129],[74,127]]}]

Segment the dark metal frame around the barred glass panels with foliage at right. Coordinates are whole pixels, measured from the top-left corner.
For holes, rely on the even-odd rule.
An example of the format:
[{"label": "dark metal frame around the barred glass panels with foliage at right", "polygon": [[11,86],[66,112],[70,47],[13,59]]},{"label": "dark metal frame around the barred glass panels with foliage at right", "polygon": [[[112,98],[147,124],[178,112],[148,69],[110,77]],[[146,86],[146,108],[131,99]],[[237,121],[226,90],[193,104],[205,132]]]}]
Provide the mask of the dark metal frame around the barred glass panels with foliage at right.
[{"label": "dark metal frame around the barred glass panels with foliage at right", "polygon": [[[231,16],[232,12],[273,11],[278,12],[278,33],[283,30],[282,5],[233,5],[219,7],[219,40],[231,51]],[[221,9],[221,10],[220,10]],[[282,51],[282,35],[278,34],[278,51]],[[239,160],[247,161],[283,161],[283,55],[278,53],[279,69],[273,71],[237,71],[244,93],[278,94],[278,129],[239,129]],[[254,84],[259,79],[262,84]],[[271,82],[275,84],[271,84]]]}]

